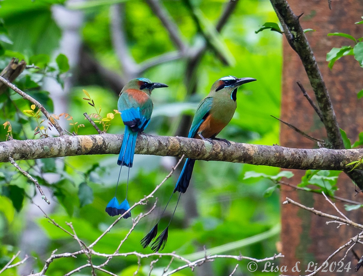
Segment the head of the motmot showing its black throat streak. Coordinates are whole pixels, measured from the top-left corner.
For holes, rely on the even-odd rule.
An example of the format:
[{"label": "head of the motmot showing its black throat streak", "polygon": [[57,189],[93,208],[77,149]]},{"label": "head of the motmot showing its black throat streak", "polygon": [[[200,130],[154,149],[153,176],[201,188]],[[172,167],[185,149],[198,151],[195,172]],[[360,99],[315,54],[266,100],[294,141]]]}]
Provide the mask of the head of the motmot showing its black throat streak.
[{"label": "head of the motmot showing its black throat streak", "polygon": [[231,100],[236,101],[237,89],[240,85],[255,81],[252,77],[242,77],[238,79],[234,76],[221,77],[213,83],[211,93],[213,95],[226,94],[231,96]]}]

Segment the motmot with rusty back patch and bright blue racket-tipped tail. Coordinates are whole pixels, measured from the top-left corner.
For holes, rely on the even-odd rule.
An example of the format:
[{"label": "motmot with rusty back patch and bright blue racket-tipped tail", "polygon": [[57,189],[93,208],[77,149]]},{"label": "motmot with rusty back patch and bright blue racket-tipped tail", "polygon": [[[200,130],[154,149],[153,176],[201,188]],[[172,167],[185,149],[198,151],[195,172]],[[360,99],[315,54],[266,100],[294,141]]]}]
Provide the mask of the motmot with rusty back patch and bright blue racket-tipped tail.
[{"label": "motmot with rusty back patch and bright blue racket-tipped tail", "polygon": [[[155,88],[168,87],[163,83],[152,83],[149,79],[137,78],[130,80],[123,88],[117,102],[117,109],[121,114],[123,124],[125,124],[125,132],[121,145],[120,154],[118,156],[117,165],[120,165],[115,196],[109,201],[106,206],[106,212],[110,216],[122,215],[128,209],[130,204],[127,201],[127,189],[129,187],[130,168],[134,161],[134,152],[136,145],[136,137],[139,132],[143,132],[150,123],[152,113],[151,92]],[[127,175],[126,197],[121,204],[116,198],[118,181],[120,179],[122,166],[129,168]],[[124,215],[124,219],[131,216],[131,213]]]}]

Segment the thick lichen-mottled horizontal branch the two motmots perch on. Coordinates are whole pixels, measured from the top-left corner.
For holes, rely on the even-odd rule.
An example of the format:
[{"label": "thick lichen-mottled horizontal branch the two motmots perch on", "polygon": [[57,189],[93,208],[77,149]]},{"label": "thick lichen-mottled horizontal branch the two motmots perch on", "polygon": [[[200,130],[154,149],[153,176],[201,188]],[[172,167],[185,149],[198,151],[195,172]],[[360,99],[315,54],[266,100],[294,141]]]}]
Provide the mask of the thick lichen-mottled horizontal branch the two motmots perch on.
[{"label": "thick lichen-mottled horizontal branch the two motmots perch on", "polygon": [[[37,140],[9,140],[0,143],[0,162],[91,154],[118,154],[122,135],[78,135]],[[297,149],[278,145],[253,145],[171,136],[139,135],[135,153],[182,156],[286,169],[347,170],[346,165],[363,158],[363,149]],[[358,167],[360,168],[360,167]]]}]

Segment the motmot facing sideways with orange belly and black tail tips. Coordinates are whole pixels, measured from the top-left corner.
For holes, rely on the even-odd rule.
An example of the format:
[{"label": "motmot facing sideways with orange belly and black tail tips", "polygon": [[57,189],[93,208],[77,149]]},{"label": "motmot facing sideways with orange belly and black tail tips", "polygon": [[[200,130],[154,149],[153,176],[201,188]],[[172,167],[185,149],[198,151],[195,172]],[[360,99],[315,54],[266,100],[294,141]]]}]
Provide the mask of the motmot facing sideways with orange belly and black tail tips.
[{"label": "motmot facing sideways with orange belly and black tail tips", "polygon": [[[231,121],[234,111],[236,111],[238,87],[240,87],[242,84],[255,80],[256,79],[250,77],[238,79],[237,77],[233,76],[221,77],[220,79],[216,80],[212,85],[209,95],[201,101],[195,112],[192,125],[188,133],[188,138],[208,140],[212,144],[213,140],[222,140],[225,141],[228,146],[230,146],[231,143],[228,140],[219,139],[216,136],[229,123],[229,121]],[[181,194],[187,191],[190,179],[192,177],[194,163],[194,159],[187,158],[185,160],[184,167],[181,170],[178,181],[176,181],[173,193],[180,192],[180,194],[174,209],[174,213],[176,207],[178,206]],[[166,204],[166,207],[168,206],[170,199]],[[163,213],[165,212],[166,207]],[[172,217],[174,216],[174,213]],[[168,228],[171,219],[166,229],[164,229],[164,231],[152,243],[151,249],[153,251],[156,252],[164,249],[168,238]],[[158,223],[156,223],[151,231],[141,240],[141,244],[144,248],[146,248],[156,237],[158,232]]]}]

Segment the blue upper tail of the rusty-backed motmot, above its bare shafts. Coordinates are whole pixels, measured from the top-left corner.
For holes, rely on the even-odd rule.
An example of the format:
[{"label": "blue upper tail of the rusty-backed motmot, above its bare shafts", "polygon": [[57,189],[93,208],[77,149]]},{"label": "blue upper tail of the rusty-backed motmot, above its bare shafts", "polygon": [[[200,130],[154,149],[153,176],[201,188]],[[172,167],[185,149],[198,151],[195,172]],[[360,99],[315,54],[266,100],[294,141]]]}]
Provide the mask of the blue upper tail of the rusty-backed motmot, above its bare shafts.
[{"label": "blue upper tail of the rusty-backed motmot, above its bare shafts", "polygon": [[133,132],[129,127],[125,127],[120,154],[117,165],[131,168],[134,161],[136,137],[138,132]]}]

